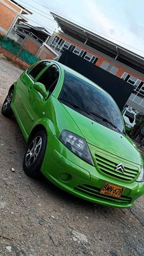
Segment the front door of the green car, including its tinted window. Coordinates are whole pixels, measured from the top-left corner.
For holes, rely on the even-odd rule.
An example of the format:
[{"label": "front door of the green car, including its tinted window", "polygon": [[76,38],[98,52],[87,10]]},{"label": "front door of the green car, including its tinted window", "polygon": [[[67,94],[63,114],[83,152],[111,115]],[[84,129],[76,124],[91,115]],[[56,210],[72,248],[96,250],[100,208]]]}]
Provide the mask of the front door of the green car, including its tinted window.
[{"label": "front door of the green car, including its tinted window", "polygon": [[40,75],[38,75],[36,82],[44,84],[46,90],[49,91],[49,97],[45,100],[41,93],[32,87],[32,90],[29,93],[29,100],[31,101],[32,120],[35,120],[35,122],[37,122],[37,119],[48,117],[47,114],[49,114],[50,111],[49,98],[59,82],[59,76],[60,71],[56,64],[51,64],[44,72],[41,72]]}]

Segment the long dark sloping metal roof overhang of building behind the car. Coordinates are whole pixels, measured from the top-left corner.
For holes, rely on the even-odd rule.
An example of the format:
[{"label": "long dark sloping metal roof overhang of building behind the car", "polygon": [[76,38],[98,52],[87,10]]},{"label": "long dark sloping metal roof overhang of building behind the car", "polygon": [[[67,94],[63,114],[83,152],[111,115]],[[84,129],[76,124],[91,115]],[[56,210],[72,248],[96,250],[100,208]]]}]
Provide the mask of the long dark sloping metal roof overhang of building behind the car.
[{"label": "long dark sloping metal roof overhang of building behind the car", "polygon": [[117,59],[141,73],[144,73],[144,58],[142,56],[132,53],[132,51],[129,51],[92,31],[88,31],[85,27],[81,27],[54,12],[51,12],[51,15],[65,34],[70,35],[107,56]]}]

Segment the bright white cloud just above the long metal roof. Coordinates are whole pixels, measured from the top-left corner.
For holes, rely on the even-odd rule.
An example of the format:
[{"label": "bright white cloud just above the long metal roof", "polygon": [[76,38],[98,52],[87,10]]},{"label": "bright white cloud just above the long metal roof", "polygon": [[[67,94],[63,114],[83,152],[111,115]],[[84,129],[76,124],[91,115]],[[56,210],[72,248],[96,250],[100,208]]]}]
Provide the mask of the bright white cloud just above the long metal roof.
[{"label": "bright white cloud just above the long metal roof", "polygon": [[[132,31],[130,27],[124,26],[123,22],[118,23],[112,20],[112,17],[106,16],[94,0],[85,0],[83,6],[82,12],[86,15],[88,26],[91,29],[95,29],[93,32],[144,56],[144,53],[142,53],[142,51],[144,52],[143,35],[137,37],[137,32]],[[143,30],[143,27],[138,27],[139,31]]]}]

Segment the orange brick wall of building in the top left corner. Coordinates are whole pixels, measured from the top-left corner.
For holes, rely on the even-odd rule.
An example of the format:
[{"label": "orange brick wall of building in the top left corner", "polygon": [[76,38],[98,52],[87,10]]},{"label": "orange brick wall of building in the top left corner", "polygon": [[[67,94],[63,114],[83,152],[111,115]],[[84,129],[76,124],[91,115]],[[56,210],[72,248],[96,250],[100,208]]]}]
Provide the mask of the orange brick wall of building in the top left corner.
[{"label": "orange brick wall of building in the top left corner", "polygon": [[[21,8],[16,6],[12,2],[10,2],[8,0],[5,0],[5,2],[7,4],[9,4],[11,7],[13,7],[13,9],[15,9],[16,12],[20,12],[21,11]],[[10,25],[12,24],[13,20],[15,19],[16,13],[13,12],[12,10],[10,10],[8,7],[6,7],[3,4],[1,4],[0,9],[1,9],[1,15],[0,15],[0,34],[5,35],[6,31],[9,30]],[[2,27],[2,29],[5,30],[5,32],[1,30],[1,27]]]}]

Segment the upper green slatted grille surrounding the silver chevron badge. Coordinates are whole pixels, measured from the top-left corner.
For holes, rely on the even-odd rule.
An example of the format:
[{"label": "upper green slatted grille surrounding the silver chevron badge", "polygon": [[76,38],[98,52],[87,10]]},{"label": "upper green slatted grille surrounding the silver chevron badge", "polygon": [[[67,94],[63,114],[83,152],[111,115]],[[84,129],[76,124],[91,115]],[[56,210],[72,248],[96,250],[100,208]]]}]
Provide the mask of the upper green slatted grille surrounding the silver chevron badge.
[{"label": "upper green slatted grille surrounding the silver chevron badge", "polygon": [[[137,177],[139,173],[139,168],[132,166],[132,164],[124,163],[123,160],[118,160],[116,158],[109,158],[106,155],[99,155],[98,153],[95,154],[96,156],[96,163],[98,164],[99,169],[115,178],[120,178],[121,180],[132,181]],[[123,163],[124,170],[115,170],[117,164]]]}]

